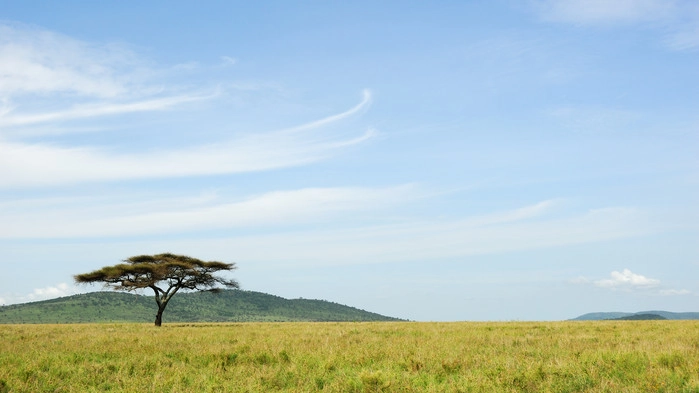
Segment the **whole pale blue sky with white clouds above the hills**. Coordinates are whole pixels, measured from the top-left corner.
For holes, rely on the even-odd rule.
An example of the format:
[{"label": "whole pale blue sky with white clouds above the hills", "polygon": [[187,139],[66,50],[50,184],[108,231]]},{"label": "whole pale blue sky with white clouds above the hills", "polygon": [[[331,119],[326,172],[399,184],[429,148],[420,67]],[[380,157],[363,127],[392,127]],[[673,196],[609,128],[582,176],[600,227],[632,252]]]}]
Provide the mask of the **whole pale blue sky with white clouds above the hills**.
[{"label": "whole pale blue sky with white clouds above the hills", "polygon": [[416,321],[699,311],[698,86],[692,0],[0,0],[0,304],[172,252]]}]

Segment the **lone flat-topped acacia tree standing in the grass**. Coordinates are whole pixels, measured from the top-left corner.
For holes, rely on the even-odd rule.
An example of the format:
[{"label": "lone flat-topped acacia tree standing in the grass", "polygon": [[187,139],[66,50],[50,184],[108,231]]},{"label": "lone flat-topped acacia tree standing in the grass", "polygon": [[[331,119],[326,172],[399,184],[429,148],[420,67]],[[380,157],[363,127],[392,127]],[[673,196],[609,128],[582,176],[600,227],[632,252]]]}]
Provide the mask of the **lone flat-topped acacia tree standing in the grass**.
[{"label": "lone flat-topped acacia tree standing in the grass", "polygon": [[104,283],[116,291],[150,288],[155,292],[158,313],[155,326],[162,325],[167,303],[180,289],[218,292],[221,286],[238,288],[235,280],[216,277],[219,271],[236,269],[235,263],[202,260],[175,254],[138,255],[114,266],[74,276],[80,284]]}]

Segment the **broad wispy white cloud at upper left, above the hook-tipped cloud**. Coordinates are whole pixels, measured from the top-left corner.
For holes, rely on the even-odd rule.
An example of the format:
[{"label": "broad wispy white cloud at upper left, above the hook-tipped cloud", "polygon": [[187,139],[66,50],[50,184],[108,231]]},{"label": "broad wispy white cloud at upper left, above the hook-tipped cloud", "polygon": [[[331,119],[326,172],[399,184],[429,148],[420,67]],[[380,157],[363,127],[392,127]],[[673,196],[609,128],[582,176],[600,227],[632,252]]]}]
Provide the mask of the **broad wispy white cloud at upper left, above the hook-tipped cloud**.
[{"label": "broad wispy white cloud at upper left, above the hook-tipped cloud", "polygon": [[0,136],[9,128],[159,111],[220,94],[148,82],[158,71],[146,64],[122,45],[0,24]]}]

